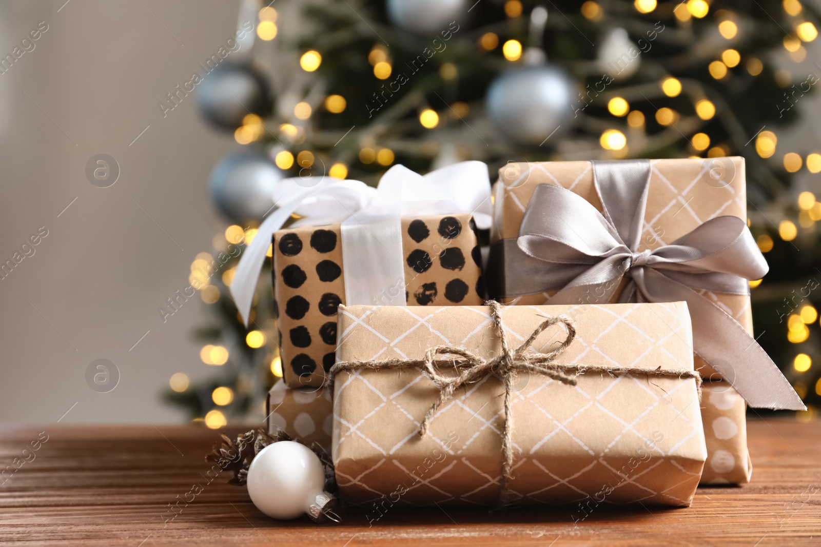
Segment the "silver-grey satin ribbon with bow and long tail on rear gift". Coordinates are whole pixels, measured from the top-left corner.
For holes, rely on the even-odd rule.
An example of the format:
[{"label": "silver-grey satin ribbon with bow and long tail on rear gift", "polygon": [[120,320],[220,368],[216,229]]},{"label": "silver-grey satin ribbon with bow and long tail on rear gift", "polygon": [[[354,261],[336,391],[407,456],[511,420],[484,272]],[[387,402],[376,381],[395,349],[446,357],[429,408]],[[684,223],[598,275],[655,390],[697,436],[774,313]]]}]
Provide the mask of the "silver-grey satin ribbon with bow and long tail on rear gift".
[{"label": "silver-grey satin ribbon with bow and long tail on rear gift", "polygon": [[[805,409],[787,378],[744,327],[696,292],[750,294],[747,280],[767,273],[767,262],[745,222],[715,217],[671,244],[639,253],[650,162],[592,163],[603,214],[570,190],[537,186],[516,250],[537,259],[538,267],[514,268],[524,275],[508,275],[505,293],[560,289],[549,303],[608,303],[626,282],[619,302],[685,301],[693,321],[693,352],[750,406]],[[506,260],[518,254],[510,253],[509,247]],[[526,286],[516,287],[514,277]]]}]

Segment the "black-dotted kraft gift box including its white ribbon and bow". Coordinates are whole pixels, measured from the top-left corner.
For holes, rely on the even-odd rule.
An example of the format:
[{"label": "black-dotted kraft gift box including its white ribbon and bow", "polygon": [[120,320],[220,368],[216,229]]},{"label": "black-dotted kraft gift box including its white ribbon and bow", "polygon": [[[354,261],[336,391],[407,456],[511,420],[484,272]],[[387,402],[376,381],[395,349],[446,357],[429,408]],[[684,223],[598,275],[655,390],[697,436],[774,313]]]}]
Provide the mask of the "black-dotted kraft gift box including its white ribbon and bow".
[{"label": "black-dotted kraft gift box including its white ribbon and bow", "polygon": [[249,324],[273,248],[276,344],[289,387],[319,386],[345,305],[467,306],[484,301],[478,230],[493,212],[488,166],[419,175],[395,165],[378,185],[333,177],[277,182],[273,207],[245,248],[231,294]]}]

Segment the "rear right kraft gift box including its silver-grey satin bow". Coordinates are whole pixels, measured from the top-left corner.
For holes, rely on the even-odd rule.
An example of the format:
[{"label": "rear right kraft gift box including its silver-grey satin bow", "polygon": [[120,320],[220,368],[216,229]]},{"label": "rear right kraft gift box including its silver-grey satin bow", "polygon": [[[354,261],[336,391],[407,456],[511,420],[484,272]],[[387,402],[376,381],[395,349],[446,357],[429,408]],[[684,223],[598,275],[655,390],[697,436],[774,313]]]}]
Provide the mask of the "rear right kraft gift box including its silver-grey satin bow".
[{"label": "rear right kraft gift box including its silver-grey satin bow", "polygon": [[705,378],[757,408],[804,408],[751,337],[747,280],[768,268],[746,227],[743,158],[510,163],[494,193],[492,298],[685,300]]}]

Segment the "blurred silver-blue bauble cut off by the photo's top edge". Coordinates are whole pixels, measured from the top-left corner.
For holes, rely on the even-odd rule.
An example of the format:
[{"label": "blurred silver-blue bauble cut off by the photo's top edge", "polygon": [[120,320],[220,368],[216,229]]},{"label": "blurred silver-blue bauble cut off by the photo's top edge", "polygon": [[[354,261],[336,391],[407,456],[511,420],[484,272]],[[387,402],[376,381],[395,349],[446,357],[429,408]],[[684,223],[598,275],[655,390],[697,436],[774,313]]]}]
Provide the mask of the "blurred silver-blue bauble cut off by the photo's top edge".
[{"label": "blurred silver-blue bauble cut off by the photo's top edge", "polygon": [[464,22],[469,7],[466,0],[388,0],[388,19],[416,34],[438,34]]}]

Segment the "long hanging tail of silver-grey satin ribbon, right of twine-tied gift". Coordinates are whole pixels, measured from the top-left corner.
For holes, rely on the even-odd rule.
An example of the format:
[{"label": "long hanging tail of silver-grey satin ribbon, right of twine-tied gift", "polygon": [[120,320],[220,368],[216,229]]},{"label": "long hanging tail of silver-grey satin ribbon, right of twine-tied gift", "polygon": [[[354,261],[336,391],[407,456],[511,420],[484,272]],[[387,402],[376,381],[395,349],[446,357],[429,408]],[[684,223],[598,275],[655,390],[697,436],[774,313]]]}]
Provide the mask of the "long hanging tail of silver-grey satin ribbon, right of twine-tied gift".
[{"label": "long hanging tail of silver-grey satin ribbon, right of twine-tied gift", "polygon": [[[685,301],[693,321],[693,353],[704,359],[753,408],[805,410],[804,403],[773,359],[741,324],[690,287],[645,269],[635,279],[650,302]],[[646,282],[645,282],[646,281]],[[652,286],[654,289],[650,290]]]}]

